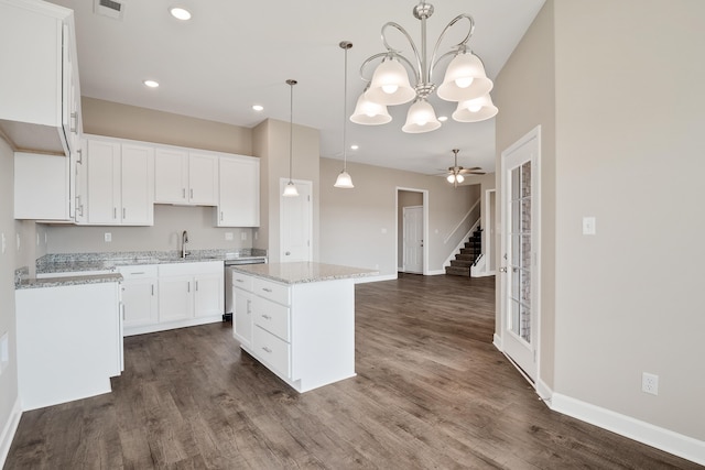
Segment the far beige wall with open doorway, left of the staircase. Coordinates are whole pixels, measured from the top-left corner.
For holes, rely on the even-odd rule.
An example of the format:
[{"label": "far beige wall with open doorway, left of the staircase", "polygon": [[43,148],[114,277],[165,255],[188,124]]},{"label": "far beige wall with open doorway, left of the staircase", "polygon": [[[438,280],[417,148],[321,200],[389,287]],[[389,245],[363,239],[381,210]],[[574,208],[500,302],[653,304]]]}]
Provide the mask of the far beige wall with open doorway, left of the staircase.
[{"label": "far beige wall with open doorway, left of the staircase", "polygon": [[454,189],[437,176],[350,162],[347,170],[355,188],[338,189],[333,184],[340,164],[321,159],[321,260],[395,276],[397,190],[419,189],[429,192],[429,271],[443,271],[443,262],[467,232],[454,229],[477,200],[479,189]]}]

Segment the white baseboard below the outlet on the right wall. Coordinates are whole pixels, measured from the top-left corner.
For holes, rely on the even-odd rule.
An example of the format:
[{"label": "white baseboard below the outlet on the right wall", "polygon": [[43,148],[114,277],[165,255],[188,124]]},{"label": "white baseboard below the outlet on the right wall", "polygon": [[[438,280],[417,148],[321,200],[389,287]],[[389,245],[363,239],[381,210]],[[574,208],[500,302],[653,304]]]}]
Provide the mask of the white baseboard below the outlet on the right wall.
[{"label": "white baseboard below the outlet on the right wall", "polygon": [[705,466],[705,441],[554,393],[551,409]]}]

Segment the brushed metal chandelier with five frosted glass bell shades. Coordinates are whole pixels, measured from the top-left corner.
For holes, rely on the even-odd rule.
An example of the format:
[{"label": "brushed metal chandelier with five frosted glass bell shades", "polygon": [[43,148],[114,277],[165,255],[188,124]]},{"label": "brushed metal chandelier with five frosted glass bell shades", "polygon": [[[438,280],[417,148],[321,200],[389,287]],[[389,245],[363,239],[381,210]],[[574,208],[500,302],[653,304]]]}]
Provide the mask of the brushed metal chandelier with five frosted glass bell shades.
[{"label": "brushed metal chandelier with five frosted glass bell shades", "polygon": [[[429,61],[426,20],[432,14],[433,6],[423,0],[413,9],[414,18],[421,20],[421,53],[406,30],[391,21],[384,23],[382,43],[387,52],[368,57],[360,66],[360,75],[367,81],[367,86],[357,100],[352,116],[350,116],[352,122],[367,125],[386,124],[392,120],[387,111],[388,106],[403,105],[413,100],[402,131],[420,133],[436,130],[441,127],[441,122],[436,118],[433,106],[429,102],[429,96],[433,92],[436,92],[441,99],[457,102],[453,119],[458,122],[478,122],[497,114],[497,107],[492,105],[489,96],[494,86],[492,81],[487,78],[480,58],[467,45],[475,31],[475,20],[465,13],[455,17],[438,36],[431,61]],[[469,23],[467,34],[460,43],[438,56],[438,48],[445,34],[463,20],[467,20]],[[398,30],[409,41],[413,59],[410,61],[400,51],[389,45],[387,40],[389,28]],[[436,88],[432,81],[433,72],[442,59],[449,56],[454,57],[445,70],[443,84]],[[367,78],[365,72],[368,65],[380,58],[381,63],[375,68],[371,78]],[[409,79],[409,70],[412,73],[413,87]]]}]

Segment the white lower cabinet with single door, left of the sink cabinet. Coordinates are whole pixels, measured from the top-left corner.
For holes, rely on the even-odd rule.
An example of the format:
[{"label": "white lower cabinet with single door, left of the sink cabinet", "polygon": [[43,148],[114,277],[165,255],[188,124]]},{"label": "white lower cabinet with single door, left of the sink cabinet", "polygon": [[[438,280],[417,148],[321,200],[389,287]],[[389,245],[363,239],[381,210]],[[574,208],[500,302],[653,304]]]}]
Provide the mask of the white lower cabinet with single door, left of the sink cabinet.
[{"label": "white lower cabinet with single door, left of the sink cabinet", "polygon": [[139,327],[154,325],[158,315],[158,266],[138,264],[119,266],[122,274],[122,316],[124,336],[139,335]]}]

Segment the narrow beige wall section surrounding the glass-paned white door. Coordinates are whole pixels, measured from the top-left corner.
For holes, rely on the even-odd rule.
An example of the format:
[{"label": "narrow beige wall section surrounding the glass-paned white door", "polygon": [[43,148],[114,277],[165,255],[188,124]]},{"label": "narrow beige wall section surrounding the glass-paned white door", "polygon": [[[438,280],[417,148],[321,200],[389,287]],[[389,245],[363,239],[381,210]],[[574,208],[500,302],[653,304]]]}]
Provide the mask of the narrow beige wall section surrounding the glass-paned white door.
[{"label": "narrow beige wall section surrounding the glass-paned white door", "polygon": [[[501,152],[541,125],[541,354],[540,380],[554,386],[555,336],[555,78],[553,0],[546,1],[497,77],[497,220],[501,220]],[[502,266],[501,233],[495,237],[496,266]],[[497,276],[497,328],[500,326]],[[499,332],[499,330],[497,330]]]}]

